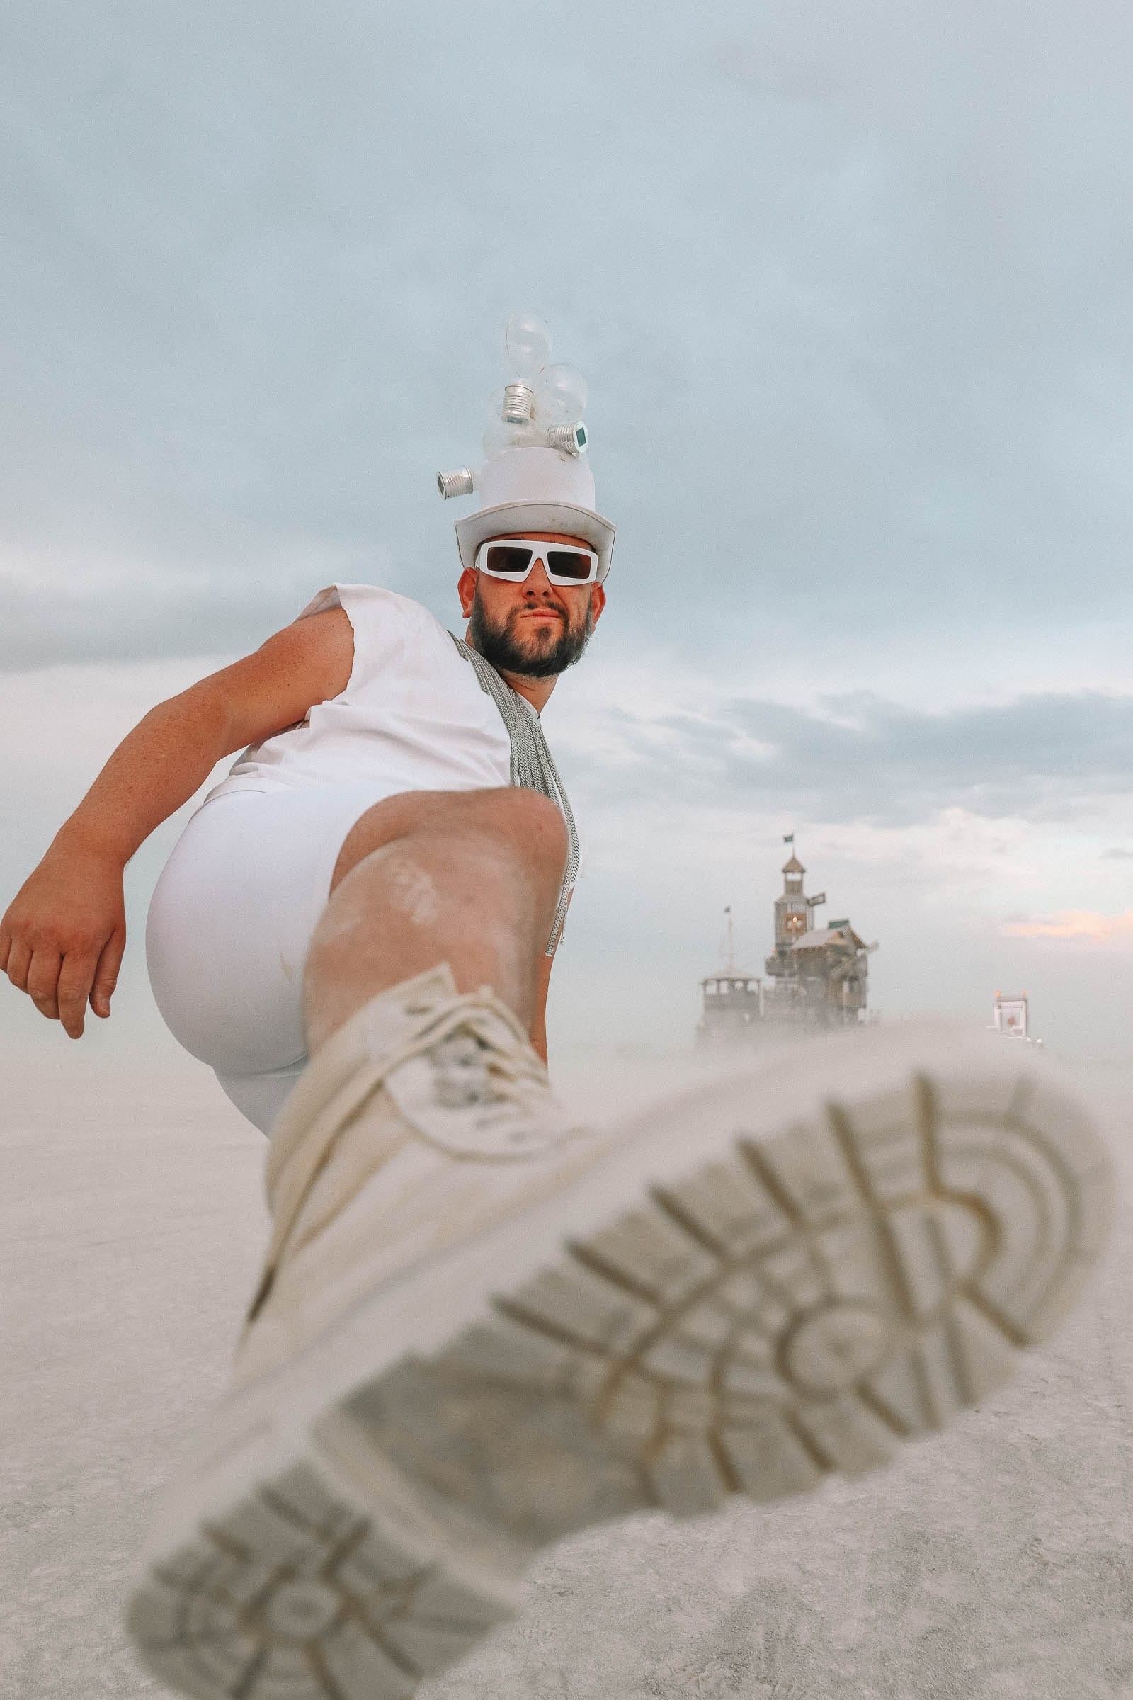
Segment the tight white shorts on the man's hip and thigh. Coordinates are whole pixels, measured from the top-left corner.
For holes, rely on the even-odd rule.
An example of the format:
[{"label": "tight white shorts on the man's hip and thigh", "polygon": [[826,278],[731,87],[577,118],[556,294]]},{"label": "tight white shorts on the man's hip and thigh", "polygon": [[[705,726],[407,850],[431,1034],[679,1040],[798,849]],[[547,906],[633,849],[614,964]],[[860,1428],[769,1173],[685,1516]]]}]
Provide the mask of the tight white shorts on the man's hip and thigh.
[{"label": "tight white shorts on the man's hip and thigh", "polygon": [[302,1074],[302,964],[367,782],[229,790],[189,819],[149,903],[146,962],[173,1037],[265,1134]]}]

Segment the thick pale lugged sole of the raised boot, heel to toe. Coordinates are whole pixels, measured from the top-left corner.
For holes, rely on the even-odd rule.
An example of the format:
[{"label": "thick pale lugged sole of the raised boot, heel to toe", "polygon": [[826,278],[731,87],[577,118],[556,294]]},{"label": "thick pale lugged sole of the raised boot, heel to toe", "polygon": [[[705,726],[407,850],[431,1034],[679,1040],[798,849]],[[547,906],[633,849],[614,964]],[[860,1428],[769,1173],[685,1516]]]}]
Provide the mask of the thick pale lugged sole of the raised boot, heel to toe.
[{"label": "thick pale lugged sole of the raised boot, heel to toe", "polygon": [[1092,1120],[1016,1040],[820,1051],[785,1064],[786,1125],[754,1114],[766,1069],[691,1088],[234,1399],[131,1600],[148,1668],[200,1700],[408,1700],[540,1545],[858,1476],[1001,1387],[1104,1244]]}]

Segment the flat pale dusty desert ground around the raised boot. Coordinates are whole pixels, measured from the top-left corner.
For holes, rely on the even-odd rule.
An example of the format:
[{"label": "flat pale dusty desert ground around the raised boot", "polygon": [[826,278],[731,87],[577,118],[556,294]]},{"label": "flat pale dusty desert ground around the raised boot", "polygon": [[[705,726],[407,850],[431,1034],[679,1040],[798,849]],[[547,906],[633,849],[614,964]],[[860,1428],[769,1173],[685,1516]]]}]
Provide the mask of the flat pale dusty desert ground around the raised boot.
[{"label": "flat pale dusty desert ground around the raised boot", "polygon": [[[1118,1243],[1011,1389],[878,1477],[572,1540],[421,1700],[1131,1700],[1133,1074],[1104,1088]],[[155,1088],[63,1052],[2,1122],[0,1693],[153,1695],[122,1586],[224,1382],[263,1141],[204,1071]]]}]

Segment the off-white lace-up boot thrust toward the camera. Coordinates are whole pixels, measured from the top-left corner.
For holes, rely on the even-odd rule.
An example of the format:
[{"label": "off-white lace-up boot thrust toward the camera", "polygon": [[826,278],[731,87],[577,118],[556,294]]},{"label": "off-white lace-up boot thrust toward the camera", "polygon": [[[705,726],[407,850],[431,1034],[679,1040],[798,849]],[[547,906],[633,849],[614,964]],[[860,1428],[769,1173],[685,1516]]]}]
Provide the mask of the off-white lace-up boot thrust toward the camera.
[{"label": "off-white lace-up boot thrust toward the camera", "polygon": [[408,1700],[540,1545],[858,1474],[984,1399],[1111,1190],[999,1035],[839,1034],[583,1134],[491,993],[408,981],[280,1119],[236,1386],[131,1634],[202,1700]]}]

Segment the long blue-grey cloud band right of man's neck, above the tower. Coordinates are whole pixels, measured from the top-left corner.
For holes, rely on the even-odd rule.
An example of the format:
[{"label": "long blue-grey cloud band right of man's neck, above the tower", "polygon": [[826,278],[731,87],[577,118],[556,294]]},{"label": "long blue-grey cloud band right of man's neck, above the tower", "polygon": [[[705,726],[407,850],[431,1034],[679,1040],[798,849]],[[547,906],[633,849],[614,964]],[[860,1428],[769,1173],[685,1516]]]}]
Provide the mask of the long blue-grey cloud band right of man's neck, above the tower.
[{"label": "long blue-grey cloud band right of man's neck, above the tower", "polygon": [[606,704],[593,789],[843,824],[902,826],[955,808],[1058,821],[1123,794],[1133,770],[1133,695],[1046,692],[929,712],[870,692],[807,707],[720,697],[719,683],[695,704],[695,690],[685,682],[676,707],[651,714]]}]

